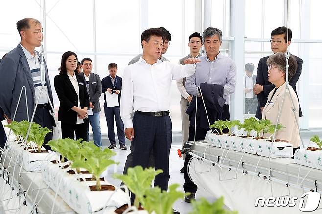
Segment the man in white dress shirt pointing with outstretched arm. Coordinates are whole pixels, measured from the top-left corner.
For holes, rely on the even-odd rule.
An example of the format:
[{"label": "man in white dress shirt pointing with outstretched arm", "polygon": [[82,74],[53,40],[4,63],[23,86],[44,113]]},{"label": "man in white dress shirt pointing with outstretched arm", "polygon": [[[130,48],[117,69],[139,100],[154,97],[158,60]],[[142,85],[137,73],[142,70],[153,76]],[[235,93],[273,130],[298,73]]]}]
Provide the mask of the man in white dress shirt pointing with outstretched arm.
[{"label": "man in white dress shirt pointing with outstretched arm", "polygon": [[[141,35],[143,55],[138,62],[124,69],[121,118],[125,136],[133,144],[133,164],[146,168],[153,150],[157,175],[155,186],[167,190],[169,182],[169,153],[172,143],[172,123],[169,117],[170,87],[174,79],[182,79],[195,72],[198,59],[189,58],[187,65],[159,60],[163,41],[160,29],[150,28]],[[133,114],[134,113],[134,114]]]}]

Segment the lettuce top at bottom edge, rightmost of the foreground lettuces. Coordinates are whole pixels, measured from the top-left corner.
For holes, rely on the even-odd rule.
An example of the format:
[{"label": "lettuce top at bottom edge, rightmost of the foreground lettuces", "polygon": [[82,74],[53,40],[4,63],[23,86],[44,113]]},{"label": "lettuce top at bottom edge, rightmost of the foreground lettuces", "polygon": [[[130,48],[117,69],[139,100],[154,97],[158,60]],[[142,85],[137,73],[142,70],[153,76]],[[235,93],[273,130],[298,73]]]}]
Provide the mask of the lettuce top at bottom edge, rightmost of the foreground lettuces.
[{"label": "lettuce top at bottom edge, rightmost of the foreground lettuces", "polygon": [[209,203],[205,198],[192,201],[192,211],[189,214],[238,214],[237,211],[228,211],[223,208],[224,198],[220,197],[215,202]]}]

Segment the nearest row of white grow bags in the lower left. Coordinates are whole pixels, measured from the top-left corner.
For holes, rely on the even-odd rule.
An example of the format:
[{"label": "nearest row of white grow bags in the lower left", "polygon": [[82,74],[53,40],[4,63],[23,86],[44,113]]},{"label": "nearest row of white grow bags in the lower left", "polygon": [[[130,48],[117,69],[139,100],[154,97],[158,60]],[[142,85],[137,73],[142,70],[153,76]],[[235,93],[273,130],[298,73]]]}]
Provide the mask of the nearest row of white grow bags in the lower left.
[{"label": "nearest row of white grow bags in the lower left", "polygon": [[[96,181],[80,181],[92,177],[92,174],[74,174],[67,173],[71,168],[60,168],[68,163],[53,164],[44,162],[41,166],[41,172],[44,182],[58,193],[58,195],[79,214],[113,213],[118,207],[130,202],[130,197],[121,189],[114,191],[90,191],[90,185],[96,185]],[[83,170],[83,169],[81,169]],[[101,185],[109,184],[107,181],[101,181]],[[107,207],[103,209],[104,207]]]}]

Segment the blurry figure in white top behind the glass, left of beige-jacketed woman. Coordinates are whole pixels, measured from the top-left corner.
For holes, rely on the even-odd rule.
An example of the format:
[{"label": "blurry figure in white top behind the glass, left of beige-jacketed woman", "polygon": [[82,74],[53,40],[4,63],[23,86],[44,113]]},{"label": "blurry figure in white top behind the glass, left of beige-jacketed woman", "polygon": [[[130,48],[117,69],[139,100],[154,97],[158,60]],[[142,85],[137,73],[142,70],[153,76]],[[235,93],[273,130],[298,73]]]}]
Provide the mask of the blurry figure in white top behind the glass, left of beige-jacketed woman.
[{"label": "blurry figure in white top behind the glass, left of beige-jacketed woman", "polygon": [[254,114],[258,106],[257,98],[253,92],[256,84],[256,75],[253,74],[255,65],[253,63],[245,64],[245,114]]}]

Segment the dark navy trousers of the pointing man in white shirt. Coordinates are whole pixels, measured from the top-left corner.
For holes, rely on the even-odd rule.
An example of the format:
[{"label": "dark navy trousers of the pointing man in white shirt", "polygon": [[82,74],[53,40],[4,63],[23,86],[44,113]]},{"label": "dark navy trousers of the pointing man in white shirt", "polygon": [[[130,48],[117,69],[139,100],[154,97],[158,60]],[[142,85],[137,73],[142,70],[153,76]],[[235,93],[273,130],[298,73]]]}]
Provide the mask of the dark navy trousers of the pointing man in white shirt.
[{"label": "dark navy trousers of the pointing man in white shirt", "polygon": [[155,169],[162,169],[163,173],[154,179],[154,186],[161,190],[168,189],[169,156],[172,143],[172,123],[170,116],[154,117],[135,113],[133,117],[134,139],[132,167],[150,165],[150,154],[153,150]]}]

